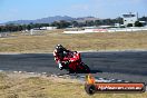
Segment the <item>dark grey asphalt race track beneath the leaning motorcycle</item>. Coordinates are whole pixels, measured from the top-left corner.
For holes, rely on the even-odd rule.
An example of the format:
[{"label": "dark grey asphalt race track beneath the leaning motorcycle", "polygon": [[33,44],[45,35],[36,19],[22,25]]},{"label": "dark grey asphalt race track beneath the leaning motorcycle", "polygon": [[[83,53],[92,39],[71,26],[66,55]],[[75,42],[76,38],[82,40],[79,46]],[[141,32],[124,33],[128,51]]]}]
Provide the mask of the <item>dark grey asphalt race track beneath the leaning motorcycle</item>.
[{"label": "dark grey asphalt race track beneath the leaning motorcycle", "polygon": [[[147,84],[147,51],[81,52],[81,58],[95,77]],[[67,74],[58,69],[52,53],[1,53],[0,70]]]}]

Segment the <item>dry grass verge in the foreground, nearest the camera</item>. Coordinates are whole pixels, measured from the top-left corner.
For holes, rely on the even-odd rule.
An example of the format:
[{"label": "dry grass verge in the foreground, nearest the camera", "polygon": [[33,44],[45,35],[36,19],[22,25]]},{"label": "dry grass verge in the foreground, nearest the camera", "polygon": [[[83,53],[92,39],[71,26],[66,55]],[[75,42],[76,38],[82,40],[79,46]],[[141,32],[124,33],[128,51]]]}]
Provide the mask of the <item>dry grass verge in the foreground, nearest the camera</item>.
[{"label": "dry grass verge in the foreground, nearest the camera", "polygon": [[96,94],[89,96],[84,85],[63,79],[29,74],[0,72],[0,98],[146,98],[144,94]]}]

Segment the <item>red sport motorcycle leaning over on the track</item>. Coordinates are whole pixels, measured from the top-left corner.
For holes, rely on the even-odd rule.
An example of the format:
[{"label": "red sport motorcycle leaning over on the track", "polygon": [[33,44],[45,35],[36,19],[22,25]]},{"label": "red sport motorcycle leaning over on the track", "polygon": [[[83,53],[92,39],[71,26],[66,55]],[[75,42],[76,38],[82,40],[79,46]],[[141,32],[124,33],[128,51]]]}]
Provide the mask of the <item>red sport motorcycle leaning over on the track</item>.
[{"label": "red sport motorcycle leaning over on the track", "polygon": [[[70,74],[89,74],[90,72],[90,68],[85,65],[81,61],[81,57],[80,53],[77,51],[70,51],[68,52],[62,62],[62,67],[63,69],[68,70]],[[68,62],[68,66],[67,66]]]}]

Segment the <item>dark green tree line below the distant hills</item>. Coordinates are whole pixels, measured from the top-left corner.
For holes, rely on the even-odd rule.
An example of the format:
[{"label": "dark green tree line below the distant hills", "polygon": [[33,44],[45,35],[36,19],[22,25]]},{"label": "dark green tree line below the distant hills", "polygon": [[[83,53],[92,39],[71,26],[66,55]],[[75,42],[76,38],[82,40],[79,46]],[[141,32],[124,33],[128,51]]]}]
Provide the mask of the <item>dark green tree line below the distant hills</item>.
[{"label": "dark green tree line below the distant hills", "polygon": [[[139,21],[147,21],[147,17],[139,18]],[[102,24],[109,24],[114,26],[115,23],[122,24],[124,20],[122,18],[116,18],[116,19],[102,19],[102,20],[87,20],[84,22],[80,21],[55,21],[52,23],[29,23],[29,24],[4,24],[0,26],[0,32],[13,32],[13,31],[22,31],[22,30],[30,30],[33,28],[40,29],[41,27],[57,27],[57,29],[63,29],[68,27],[91,27],[91,26],[102,26]],[[140,22],[136,22],[135,26],[141,27]],[[131,27],[131,26],[128,26]]]}]

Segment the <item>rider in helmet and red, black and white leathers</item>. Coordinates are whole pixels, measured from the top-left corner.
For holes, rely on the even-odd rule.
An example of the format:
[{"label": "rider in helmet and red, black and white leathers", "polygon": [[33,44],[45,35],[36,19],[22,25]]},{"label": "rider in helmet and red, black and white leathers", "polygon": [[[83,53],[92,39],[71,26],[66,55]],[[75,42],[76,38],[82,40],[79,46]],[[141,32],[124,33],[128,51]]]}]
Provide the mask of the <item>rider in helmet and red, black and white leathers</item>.
[{"label": "rider in helmet and red, black and white leathers", "polygon": [[67,50],[61,45],[57,45],[55,47],[53,56],[56,62],[59,65],[59,69],[62,70],[65,66],[69,65],[69,61],[63,61],[63,58],[70,52],[70,50]]}]

